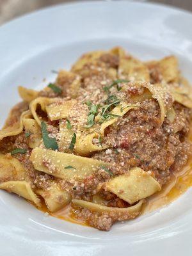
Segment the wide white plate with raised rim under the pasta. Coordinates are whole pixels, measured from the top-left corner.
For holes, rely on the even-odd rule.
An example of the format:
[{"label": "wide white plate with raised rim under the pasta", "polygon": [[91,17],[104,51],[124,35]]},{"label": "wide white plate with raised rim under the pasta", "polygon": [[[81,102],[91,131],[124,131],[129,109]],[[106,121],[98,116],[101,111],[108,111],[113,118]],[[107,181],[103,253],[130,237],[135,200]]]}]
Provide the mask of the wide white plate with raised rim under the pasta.
[{"label": "wide white plate with raised rim under the pasta", "polygon": [[[40,88],[83,52],[125,47],[142,60],[175,54],[192,81],[192,15],[156,4],[60,5],[0,28],[0,116],[19,101],[17,86]],[[47,77],[47,81],[42,81]],[[12,255],[190,255],[192,190],[160,211],[118,223],[109,232],[46,217],[0,191],[0,250]]]}]

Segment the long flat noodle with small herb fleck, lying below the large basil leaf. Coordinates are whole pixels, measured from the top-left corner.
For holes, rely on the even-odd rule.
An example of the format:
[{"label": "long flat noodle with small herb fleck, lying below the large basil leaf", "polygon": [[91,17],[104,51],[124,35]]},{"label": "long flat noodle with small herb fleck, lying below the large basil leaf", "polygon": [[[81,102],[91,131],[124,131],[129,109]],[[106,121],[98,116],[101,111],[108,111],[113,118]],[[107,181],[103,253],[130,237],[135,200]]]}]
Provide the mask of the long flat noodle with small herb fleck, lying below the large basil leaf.
[{"label": "long flat noodle with small herb fleck, lying below the large basil leaf", "polygon": [[96,172],[101,165],[108,165],[96,159],[43,148],[34,148],[30,160],[36,170],[65,180],[84,179]]}]

